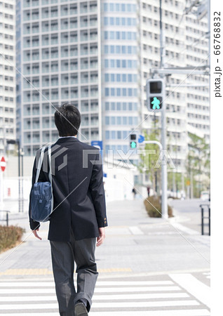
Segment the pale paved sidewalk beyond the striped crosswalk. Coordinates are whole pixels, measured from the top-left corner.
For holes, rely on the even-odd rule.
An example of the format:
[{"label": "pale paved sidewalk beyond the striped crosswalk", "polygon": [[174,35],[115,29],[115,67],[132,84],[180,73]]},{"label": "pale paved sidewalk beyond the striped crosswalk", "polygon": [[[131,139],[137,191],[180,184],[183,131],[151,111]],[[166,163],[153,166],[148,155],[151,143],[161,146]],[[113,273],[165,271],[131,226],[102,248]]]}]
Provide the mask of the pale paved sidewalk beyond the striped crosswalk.
[{"label": "pale paved sidewalk beyond the striped crosswalk", "polygon": [[[40,241],[30,233],[24,214],[21,217],[22,220],[11,220],[11,223],[27,229],[25,242],[0,255],[1,277],[8,269],[51,270],[48,223],[41,225],[39,235],[43,240]],[[96,249],[101,271],[151,274],[210,268],[209,236],[182,232],[175,228],[175,218],[169,221],[149,218],[140,199],[110,202],[107,217],[107,237]]]}]

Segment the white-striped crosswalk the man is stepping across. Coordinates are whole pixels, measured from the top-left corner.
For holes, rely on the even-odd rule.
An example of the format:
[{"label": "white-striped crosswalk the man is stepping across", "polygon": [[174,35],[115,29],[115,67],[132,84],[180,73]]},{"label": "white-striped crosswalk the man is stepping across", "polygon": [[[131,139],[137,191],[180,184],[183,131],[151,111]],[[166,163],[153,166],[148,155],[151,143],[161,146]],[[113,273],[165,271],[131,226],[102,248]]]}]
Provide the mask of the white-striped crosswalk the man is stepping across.
[{"label": "white-striped crosswalk the man is stepping across", "polygon": [[[89,315],[209,316],[205,302],[182,287],[185,278],[188,275],[99,278]],[[0,315],[8,314],[59,316],[53,280],[0,281]]]}]

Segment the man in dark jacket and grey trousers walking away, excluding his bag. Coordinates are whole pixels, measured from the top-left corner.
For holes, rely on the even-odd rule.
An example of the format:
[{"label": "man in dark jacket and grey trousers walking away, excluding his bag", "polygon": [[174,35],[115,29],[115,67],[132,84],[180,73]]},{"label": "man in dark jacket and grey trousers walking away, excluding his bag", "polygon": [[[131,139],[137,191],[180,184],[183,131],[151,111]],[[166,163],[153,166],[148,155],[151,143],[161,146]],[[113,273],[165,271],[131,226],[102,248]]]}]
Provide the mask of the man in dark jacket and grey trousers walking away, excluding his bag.
[{"label": "man in dark jacket and grey trousers walking away, excluding his bag", "polygon": [[[88,315],[98,275],[96,238],[96,245],[100,246],[105,237],[104,227],[107,226],[100,151],[76,138],[80,124],[81,114],[73,105],[64,104],[55,112],[55,125],[60,138],[51,147],[54,211],[50,216],[48,239],[62,316]],[[38,154],[34,162],[32,185],[36,178]],[[39,182],[44,181],[49,181],[47,150],[39,176]],[[31,202],[29,224],[35,237],[41,239],[37,233],[40,224],[32,220]]]}]

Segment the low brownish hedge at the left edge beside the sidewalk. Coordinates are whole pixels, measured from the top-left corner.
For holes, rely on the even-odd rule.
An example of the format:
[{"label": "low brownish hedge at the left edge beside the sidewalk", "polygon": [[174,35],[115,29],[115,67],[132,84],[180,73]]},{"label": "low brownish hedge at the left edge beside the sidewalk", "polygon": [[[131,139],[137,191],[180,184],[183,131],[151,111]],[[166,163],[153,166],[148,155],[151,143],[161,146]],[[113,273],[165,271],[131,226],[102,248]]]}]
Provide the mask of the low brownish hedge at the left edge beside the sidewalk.
[{"label": "low brownish hedge at the left edge beside the sidewalk", "polygon": [[18,242],[21,242],[24,232],[25,229],[18,226],[0,225],[0,253],[13,248]]}]

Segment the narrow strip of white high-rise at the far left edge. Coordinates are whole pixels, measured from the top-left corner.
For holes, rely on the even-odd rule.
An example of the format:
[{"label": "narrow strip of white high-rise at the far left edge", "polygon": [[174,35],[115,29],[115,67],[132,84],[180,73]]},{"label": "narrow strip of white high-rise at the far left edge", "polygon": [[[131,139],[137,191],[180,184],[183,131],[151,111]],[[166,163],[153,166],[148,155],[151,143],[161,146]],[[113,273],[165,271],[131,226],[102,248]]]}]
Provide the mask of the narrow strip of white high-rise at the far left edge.
[{"label": "narrow strip of white high-rise at the far left edge", "polygon": [[15,140],[15,1],[0,1],[0,156]]}]

